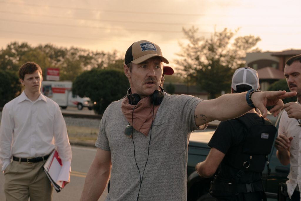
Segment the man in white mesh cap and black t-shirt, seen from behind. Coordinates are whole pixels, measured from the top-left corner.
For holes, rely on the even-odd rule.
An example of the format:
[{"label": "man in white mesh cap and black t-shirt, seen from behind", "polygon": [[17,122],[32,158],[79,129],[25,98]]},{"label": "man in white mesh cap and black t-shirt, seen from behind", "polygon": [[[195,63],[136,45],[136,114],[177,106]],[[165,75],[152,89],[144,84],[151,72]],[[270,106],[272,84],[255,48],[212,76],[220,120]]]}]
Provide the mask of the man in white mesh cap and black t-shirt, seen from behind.
[{"label": "man in white mesh cap and black t-shirt, seen from behind", "polygon": [[[252,89],[259,90],[257,72],[249,67],[238,68],[232,77],[231,93]],[[264,127],[265,136],[260,136],[262,132],[257,129],[262,127],[256,124],[268,125]],[[197,173],[203,177],[213,176],[220,167],[210,194],[217,200],[266,200],[261,177],[276,130],[255,108],[236,119],[222,121],[208,143],[211,150],[206,160],[196,165]]]}]

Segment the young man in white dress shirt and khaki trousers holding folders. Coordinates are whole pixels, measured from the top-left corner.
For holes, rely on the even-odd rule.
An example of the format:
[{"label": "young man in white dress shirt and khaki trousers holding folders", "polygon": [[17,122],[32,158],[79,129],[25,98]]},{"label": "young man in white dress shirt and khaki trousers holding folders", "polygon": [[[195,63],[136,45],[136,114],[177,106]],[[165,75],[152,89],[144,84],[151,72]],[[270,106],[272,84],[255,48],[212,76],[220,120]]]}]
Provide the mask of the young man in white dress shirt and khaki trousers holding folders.
[{"label": "young man in white dress shirt and khaki trousers holding folders", "polygon": [[6,200],[51,200],[53,188],[42,166],[56,147],[63,165],[70,168],[66,124],[57,103],[40,92],[43,77],[38,64],[23,64],[19,78],[25,90],[5,104],[0,126]]}]

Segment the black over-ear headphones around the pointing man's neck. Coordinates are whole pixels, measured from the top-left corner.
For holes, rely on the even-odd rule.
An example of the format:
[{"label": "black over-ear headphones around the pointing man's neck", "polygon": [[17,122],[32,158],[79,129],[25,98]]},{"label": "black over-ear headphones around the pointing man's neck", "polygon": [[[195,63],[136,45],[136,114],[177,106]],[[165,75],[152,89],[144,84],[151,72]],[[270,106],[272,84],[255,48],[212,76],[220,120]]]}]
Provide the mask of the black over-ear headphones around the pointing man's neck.
[{"label": "black over-ear headphones around the pointing man's neck", "polygon": [[[155,90],[154,93],[151,95],[151,103],[154,103],[154,105],[160,105],[160,103],[163,100],[163,97],[165,96],[164,94],[164,89],[162,86],[159,86],[160,90]],[[128,89],[126,92],[126,97],[129,99],[129,104],[131,105],[137,105],[138,102],[141,100],[140,96],[137,93],[132,93],[131,88]]]}]

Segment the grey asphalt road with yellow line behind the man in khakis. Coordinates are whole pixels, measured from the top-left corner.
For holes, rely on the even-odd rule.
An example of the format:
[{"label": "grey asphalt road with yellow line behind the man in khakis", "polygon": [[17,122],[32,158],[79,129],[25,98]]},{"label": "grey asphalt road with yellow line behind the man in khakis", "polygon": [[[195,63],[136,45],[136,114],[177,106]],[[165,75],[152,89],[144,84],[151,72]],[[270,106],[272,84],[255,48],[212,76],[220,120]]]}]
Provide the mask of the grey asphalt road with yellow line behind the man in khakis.
[{"label": "grey asphalt road with yellow line behind the man in khakis", "polygon": [[[71,175],[70,183],[57,193],[55,190],[52,193],[53,201],[76,201],[79,200],[82,188],[84,186],[85,177],[90,168],[90,165],[94,159],[96,148],[86,148],[86,147],[77,147],[71,146],[72,148],[72,162],[71,162]],[[0,201],[5,200],[4,195],[4,174],[0,174]],[[107,188],[106,188],[107,189]],[[107,195],[107,190],[103,195],[98,199],[98,201],[104,201],[105,196]]]}]

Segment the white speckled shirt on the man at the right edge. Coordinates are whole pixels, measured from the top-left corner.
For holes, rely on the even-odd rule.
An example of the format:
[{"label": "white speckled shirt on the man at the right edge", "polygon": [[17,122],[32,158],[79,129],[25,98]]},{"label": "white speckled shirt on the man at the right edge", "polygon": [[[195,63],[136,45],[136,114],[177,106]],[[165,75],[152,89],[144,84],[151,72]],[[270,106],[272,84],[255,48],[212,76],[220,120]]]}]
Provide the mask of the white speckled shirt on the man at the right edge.
[{"label": "white speckled shirt on the man at the right edge", "polygon": [[289,138],[293,137],[290,144],[290,174],[287,184],[287,193],[291,196],[298,184],[301,187],[301,127],[297,119],[289,118],[286,111],[282,112],[279,122],[278,135],[283,134]]}]

